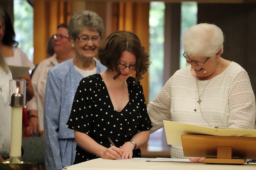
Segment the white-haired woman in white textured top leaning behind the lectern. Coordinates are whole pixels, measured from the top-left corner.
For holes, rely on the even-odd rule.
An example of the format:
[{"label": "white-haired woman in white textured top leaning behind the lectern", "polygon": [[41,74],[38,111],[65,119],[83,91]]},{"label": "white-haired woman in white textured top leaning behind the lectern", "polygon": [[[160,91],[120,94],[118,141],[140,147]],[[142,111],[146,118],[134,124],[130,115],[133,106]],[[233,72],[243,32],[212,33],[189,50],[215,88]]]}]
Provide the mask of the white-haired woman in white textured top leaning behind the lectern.
[{"label": "white-haired woman in white textured top leaning behind the lectern", "polygon": [[[148,104],[151,133],[164,126],[163,120],[253,129],[255,96],[250,79],[239,64],[221,57],[221,29],[208,23],[194,25],[184,33],[182,42],[183,56],[190,65],[176,71]],[[172,145],[171,157],[185,158],[182,147]],[[189,158],[192,162],[203,159]]]}]

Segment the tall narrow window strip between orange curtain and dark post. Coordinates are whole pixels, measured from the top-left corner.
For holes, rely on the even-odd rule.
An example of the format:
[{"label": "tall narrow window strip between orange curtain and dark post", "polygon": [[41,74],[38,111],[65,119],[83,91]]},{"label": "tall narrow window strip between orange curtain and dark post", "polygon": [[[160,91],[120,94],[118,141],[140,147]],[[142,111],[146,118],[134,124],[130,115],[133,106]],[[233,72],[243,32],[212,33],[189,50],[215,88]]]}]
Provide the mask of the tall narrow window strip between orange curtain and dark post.
[{"label": "tall narrow window strip between orange curtain and dark post", "polygon": [[163,87],[164,69],[164,2],[151,2],[149,13],[150,55],[149,99],[151,101]]}]

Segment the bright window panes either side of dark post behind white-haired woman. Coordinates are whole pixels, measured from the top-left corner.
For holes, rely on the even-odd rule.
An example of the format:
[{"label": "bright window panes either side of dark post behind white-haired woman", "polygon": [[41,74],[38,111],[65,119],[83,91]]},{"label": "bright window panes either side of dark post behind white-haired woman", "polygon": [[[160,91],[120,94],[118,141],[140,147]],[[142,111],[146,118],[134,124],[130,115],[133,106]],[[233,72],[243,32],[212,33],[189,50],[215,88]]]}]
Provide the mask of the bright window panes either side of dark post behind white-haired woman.
[{"label": "bright window panes either side of dark post behind white-haired woman", "polygon": [[[150,54],[152,64],[149,68],[149,99],[151,101],[163,87],[164,68],[164,23],[165,23],[165,3],[150,3]],[[183,2],[181,4],[181,36],[192,25],[197,23],[197,3]],[[180,43],[180,68],[186,67],[186,59],[183,57],[182,42]],[[167,145],[165,132],[163,129],[152,133],[148,140],[148,151],[166,151]]]}]

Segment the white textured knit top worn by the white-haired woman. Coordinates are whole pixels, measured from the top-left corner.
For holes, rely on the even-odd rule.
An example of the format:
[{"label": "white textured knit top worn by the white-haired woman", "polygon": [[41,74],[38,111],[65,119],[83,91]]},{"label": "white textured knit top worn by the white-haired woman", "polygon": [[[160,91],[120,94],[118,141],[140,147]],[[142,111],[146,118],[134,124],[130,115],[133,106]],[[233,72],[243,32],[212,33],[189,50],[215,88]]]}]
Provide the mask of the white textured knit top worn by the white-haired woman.
[{"label": "white textured knit top worn by the white-haired woman", "polygon": [[[207,86],[209,80],[198,80],[199,95],[206,86],[200,105],[196,78],[191,75],[190,68],[176,71],[148,104],[153,125],[151,133],[164,126],[163,120],[207,127],[254,128],[255,96],[249,76],[239,64],[232,62]],[[173,145],[171,157],[185,158],[182,147]]]}]

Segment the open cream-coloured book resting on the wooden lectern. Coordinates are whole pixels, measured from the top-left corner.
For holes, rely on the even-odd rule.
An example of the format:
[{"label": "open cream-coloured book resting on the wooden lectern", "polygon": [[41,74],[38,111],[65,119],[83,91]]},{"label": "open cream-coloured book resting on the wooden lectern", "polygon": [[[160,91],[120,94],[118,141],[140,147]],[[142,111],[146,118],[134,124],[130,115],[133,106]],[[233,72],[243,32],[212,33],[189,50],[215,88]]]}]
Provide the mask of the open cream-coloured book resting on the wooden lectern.
[{"label": "open cream-coloured book resting on the wooden lectern", "polygon": [[210,128],[164,120],[167,144],[182,146],[181,135],[256,137],[256,129]]}]

